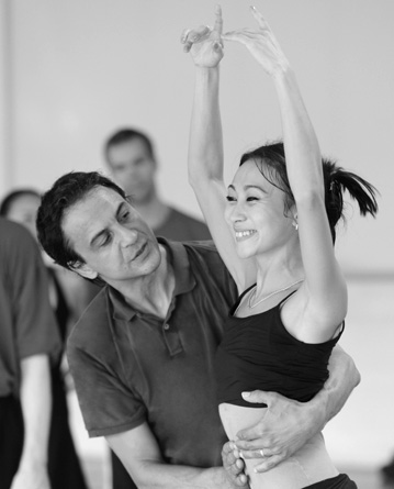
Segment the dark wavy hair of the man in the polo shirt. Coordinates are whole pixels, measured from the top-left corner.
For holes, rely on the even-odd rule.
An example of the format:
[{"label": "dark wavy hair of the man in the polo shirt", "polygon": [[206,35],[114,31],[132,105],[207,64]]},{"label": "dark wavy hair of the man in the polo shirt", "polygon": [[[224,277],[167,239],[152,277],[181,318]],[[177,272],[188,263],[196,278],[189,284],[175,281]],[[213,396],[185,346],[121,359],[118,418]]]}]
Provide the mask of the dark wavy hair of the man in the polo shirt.
[{"label": "dark wavy hair of the man in the polo shirt", "polygon": [[63,220],[72,205],[82,201],[98,187],[110,188],[126,199],[124,191],[116,184],[97,171],[66,174],[42,197],[36,220],[38,241],[50,258],[65,268],[72,270],[76,262],[85,260],[72,249],[65,236]]}]

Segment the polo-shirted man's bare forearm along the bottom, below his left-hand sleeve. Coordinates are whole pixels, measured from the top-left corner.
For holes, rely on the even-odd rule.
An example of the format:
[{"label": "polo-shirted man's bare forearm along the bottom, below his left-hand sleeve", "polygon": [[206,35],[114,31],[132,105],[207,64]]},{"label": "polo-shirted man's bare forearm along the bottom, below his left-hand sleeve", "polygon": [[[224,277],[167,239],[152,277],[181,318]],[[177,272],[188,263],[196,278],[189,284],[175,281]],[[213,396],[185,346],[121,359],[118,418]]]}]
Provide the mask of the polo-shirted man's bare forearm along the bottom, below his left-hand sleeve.
[{"label": "polo-shirted man's bare forearm along the bottom, below his left-hand sleeve", "polygon": [[[247,488],[223,467],[199,468],[167,464],[147,423],[106,436],[139,489],[234,489]],[[245,479],[244,479],[245,480]]]}]

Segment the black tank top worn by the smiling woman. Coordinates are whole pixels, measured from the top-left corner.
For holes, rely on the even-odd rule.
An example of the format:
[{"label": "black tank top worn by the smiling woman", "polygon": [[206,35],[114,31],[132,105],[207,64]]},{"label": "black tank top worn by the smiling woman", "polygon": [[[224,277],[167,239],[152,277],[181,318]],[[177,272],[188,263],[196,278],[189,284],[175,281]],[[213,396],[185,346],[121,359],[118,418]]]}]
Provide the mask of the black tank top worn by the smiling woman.
[{"label": "black tank top worn by the smiling woman", "polygon": [[[243,399],[241,392],[274,391],[301,402],[311,400],[328,378],[328,359],[341,332],[325,343],[303,343],[283,326],[281,304],[236,318],[247,289],[234,304],[225,322],[224,337],[215,355],[217,401],[249,408],[267,407]],[[294,292],[292,292],[294,293]]]}]

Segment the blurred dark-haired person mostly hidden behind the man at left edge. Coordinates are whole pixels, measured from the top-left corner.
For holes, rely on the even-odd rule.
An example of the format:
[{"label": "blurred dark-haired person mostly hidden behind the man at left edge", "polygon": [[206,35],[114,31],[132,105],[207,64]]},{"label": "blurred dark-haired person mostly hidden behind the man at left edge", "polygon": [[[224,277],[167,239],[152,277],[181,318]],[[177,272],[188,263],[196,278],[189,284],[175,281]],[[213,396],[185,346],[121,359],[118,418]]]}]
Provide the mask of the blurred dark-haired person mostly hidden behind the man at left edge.
[{"label": "blurred dark-haired person mostly hidden behind the man at left edge", "polygon": [[[41,203],[41,196],[34,189],[19,189],[8,193],[0,203],[0,215],[24,225],[36,240],[35,219]],[[75,448],[67,404],[67,385],[70,377],[64,349],[70,327],[90,302],[92,286],[75,274],[54,265],[52,259],[42,254],[47,270],[48,298],[55,312],[61,341],[61,355],[50,370],[53,410],[49,431],[48,473],[54,489],[86,489],[83,471]],[[94,288],[99,290],[99,288]],[[66,382],[67,378],[67,382]]]}]

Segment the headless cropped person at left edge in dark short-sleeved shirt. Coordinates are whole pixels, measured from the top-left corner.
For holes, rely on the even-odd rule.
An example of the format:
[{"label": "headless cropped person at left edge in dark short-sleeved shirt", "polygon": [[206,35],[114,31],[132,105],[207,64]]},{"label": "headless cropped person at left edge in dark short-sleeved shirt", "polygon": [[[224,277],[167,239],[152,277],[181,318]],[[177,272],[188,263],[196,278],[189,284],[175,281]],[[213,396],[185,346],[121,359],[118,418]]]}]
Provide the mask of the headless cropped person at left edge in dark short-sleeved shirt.
[{"label": "headless cropped person at left edge in dark short-sleeved shirt", "polygon": [[59,352],[40,251],[0,218],[0,487],[49,489],[49,358]]}]

